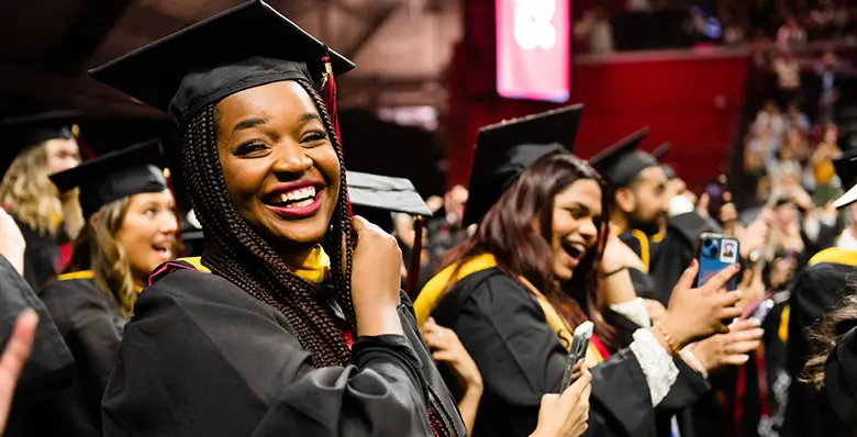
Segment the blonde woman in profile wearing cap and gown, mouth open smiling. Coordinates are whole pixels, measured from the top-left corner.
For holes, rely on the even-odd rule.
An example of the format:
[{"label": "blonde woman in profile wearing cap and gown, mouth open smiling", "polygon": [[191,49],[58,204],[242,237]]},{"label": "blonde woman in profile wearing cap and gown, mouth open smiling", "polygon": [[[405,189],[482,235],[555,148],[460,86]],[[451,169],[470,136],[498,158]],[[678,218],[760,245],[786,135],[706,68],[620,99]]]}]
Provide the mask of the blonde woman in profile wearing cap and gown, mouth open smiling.
[{"label": "blonde woman in profile wearing cap and gown, mouth open smiling", "polygon": [[[22,435],[101,434],[101,397],[119,363],[123,326],[152,270],[174,257],[178,221],[157,143],[114,152],[53,175],[79,188],[87,224],[66,273],[40,292],[77,362],[74,384],[32,410]],[[49,419],[36,419],[35,415]]]}]

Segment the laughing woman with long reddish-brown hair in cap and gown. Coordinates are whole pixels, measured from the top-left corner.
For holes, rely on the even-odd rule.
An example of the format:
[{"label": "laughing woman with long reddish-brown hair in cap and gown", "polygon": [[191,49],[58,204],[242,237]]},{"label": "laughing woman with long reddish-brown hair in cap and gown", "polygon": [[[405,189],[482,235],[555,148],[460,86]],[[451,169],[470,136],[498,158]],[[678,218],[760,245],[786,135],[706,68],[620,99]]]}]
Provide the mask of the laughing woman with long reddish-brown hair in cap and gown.
[{"label": "laughing woman with long reddish-brown hair in cap and gown", "polygon": [[[479,367],[485,393],[476,436],[533,432],[541,396],[559,391],[570,332],[587,320],[596,325],[587,352],[593,374],[587,435],[655,436],[656,407],[681,407],[709,388],[674,359],[658,330],[637,326],[630,347],[611,347],[620,343],[617,328],[608,325],[606,313],[602,316],[596,279],[608,198],[594,170],[569,153],[580,110],[570,107],[480,131],[465,210],[465,224],[479,222],[479,228],[415,303],[418,320],[431,314],[454,329]],[[553,214],[545,205],[553,205]],[[538,232],[533,223],[554,227]],[[552,290],[542,264],[564,281],[561,290]],[[632,288],[624,268],[601,274],[601,281],[619,279],[625,290]],[[637,300],[613,311],[648,323]],[[457,391],[454,378],[447,383]],[[693,395],[672,393],[676,384],[695,384],[689,390]]]}]

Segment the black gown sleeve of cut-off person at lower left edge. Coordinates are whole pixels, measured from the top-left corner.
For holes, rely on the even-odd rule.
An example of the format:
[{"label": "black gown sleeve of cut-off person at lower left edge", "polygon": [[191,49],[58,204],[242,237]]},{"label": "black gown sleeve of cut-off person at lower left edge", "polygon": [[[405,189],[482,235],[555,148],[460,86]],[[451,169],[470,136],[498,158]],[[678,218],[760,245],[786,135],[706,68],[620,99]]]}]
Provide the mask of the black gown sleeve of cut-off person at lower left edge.
[{"label": "black gown sleeve of cut-off person at lower left edge", "polygon": [[0,340],[3,345],[12,334],[15,318],[27,307],[38,314],[38,327],[33,350],[18,380],[5,436],[33,436],[25,433],[26,428],[23,427],[26,425],[29,413],[31,411],[37,413],[34,405],[71,383],[75,360],[45,305],[12,265],[0,256],[0,314],[2,314]]}]

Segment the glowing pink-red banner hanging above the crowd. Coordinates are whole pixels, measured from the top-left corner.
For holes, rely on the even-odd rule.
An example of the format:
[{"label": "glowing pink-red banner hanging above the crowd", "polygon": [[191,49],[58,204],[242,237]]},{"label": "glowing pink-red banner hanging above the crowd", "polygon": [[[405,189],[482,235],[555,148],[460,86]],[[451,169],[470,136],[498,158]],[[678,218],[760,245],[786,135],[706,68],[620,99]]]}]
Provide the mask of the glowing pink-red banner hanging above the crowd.
[{"label": "glowing pink-red banner hanging above the crowd", "polygon": [[565,102],[570,0],[497,0],[497,92]]}]

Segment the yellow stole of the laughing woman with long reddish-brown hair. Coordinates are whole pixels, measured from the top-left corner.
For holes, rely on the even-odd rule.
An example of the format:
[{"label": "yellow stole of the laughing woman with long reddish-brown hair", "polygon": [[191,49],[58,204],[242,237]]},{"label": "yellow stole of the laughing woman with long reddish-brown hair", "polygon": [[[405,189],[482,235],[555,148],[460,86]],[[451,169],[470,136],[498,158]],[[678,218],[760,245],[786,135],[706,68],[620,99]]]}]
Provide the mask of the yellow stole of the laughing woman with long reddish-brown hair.
[{"label": "yellow stole of the laughing woman with long reddish-brown hair", "polygon": [[[422,324],[429,320],[429,315],[432,314],[432,311],[437,307],[446,293],[456,282],[472,273],[494,267],[497,267],[497,259],[494,259],[494,256],[491,254],[482,254],[474,257],[464,265],[460,265],[460,268],[459,265],[453,265],[437,273],[429,281],[429,283],[425,284],[413,304],[414,312],[416,313],[418,326],[422,326]],[[454,273],[455,277],[453,277]],[[538,289],[533,287],[533,284],[523,277],[519,277],[517,279],[536,298],[538,306],[541,306],[542,312],[545,313],[545,322],[547,323],[547,326],[550,328],[554,335],[556,335],[559,343],[566,349],[571,348],[574,328],[571,328],[566,320],[559,315],[559,312],[556,311],[554,305],[550,304],[547,298],[541,291],[538,291]],[[599,352],[598,348],[596,348],[596,346],[590,343],[589,348],[587,349],[587,366],[594,367],[603,360],[604,358],[601,356],[601,352]]]}]

